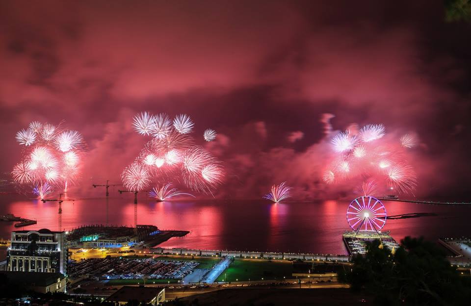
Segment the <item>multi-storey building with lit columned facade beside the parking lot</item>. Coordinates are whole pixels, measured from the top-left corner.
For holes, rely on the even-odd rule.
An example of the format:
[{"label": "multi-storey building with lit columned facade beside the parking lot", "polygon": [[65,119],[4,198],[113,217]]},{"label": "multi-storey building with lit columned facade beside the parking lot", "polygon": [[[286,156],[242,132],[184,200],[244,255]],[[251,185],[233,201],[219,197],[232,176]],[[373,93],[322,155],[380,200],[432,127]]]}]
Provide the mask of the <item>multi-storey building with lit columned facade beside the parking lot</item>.
[{"label": "multi-storey building with lit columned facade beside the parking lot", "polygon": [[67,275],[68,250],[65,244],[63,231],[12,231],[11,246],[7,251],[7,270]]}]

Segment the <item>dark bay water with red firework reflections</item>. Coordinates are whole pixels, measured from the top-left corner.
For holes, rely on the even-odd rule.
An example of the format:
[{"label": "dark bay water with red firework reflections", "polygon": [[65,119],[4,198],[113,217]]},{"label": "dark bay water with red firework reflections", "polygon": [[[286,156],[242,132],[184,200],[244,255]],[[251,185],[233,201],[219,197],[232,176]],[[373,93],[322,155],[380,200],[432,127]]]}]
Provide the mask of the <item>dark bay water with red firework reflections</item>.
[{"label": "dark bay water with red firework reflections", "polygon": [[[20,195],[2,195],[0,201],[0,215],[13,213],[37,220],[37,225],[25,229],[58,228],[57,203],[28,200]],[[156,203],[139,199],[137,224],[191,231],[183,238],[172,238],[163,243],[166,247],[347,254],[341,234],[348,229],[345,218],[348,204],[349,201],[272,204],[265,200]],[[436,240],[471,233],[471,206],[384,204],[390,216],[425,215],[388,220],[383,230],[391,230],[397,241],[407,235],[423,235]],[[106,224],[105,200],[64,202],[62,210],[62,228],[66,230],[88,224]],[[109,199],[108,219],[110,225],[134,225],[131,195]],[[13,224],[0,222],[0,237],[9,238],[10,231],[15,229]]]}]

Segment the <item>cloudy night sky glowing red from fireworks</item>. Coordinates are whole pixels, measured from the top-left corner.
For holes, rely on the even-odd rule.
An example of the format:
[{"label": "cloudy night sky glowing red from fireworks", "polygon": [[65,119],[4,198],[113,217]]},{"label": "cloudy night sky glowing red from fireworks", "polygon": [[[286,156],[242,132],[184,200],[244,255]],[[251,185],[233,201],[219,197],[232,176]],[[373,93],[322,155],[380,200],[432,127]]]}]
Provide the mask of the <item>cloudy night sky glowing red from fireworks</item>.
[{"label": "cloudy night sky glowing red from fireworks", "polygon": [[[322,171],[334,130],[414,131],[418,198],[470,200],[471,23],[442,1],[1,1],[0,170],[30,121],[79,130],[82,188],[120,181],[141,111],[187,113],[223,161],[220,198],[342,196]],[[320,1],[318,1],[320,2]],[[86,186],[86,187],[85,187]]]}]

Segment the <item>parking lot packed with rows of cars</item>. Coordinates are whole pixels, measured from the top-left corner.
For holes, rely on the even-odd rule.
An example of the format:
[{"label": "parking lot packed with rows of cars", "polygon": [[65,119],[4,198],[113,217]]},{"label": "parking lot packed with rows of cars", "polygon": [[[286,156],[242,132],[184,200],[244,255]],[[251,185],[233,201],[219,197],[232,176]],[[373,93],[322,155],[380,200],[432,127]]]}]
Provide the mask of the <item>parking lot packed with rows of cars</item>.
[{"label": "parking lot packed with rows of cars", "polygon": [[198,265],[194,261],[155,258],[89,258],[72,261],[69,275],[71,278],[89,276],[97,280],[183,279]]}]

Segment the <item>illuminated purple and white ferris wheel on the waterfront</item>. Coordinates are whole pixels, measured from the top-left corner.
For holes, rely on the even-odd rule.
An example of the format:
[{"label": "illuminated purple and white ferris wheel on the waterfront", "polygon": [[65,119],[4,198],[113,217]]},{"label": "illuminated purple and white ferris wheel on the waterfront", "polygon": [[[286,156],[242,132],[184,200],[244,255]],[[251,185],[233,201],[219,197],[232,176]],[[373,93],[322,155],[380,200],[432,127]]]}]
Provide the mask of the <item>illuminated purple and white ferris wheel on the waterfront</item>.
[{"label": "illuminated purple and white ferris wheel on the waterfront", "polygon": [[371,196],[361,196],[348,205],[347,221],[355,231],[381,230],[386,223],[386,208]]}]

